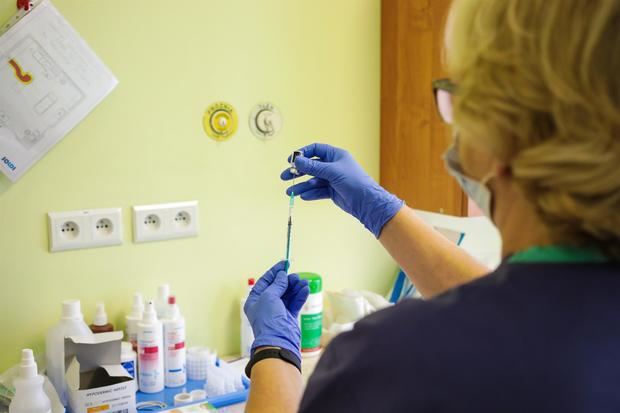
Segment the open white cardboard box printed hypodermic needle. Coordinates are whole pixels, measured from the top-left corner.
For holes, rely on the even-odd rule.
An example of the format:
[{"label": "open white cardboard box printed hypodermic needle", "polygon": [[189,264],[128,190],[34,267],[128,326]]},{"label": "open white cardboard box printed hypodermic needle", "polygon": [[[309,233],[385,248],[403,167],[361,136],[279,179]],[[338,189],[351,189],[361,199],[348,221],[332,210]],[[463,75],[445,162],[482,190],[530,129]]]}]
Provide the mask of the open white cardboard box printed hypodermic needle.
[{"label": "open white cardboard box printed hypodermic needle", "polygon": [[123,333],[65,338],[65,378],[73,413],[135,413],[136,382],[121,366]]}]

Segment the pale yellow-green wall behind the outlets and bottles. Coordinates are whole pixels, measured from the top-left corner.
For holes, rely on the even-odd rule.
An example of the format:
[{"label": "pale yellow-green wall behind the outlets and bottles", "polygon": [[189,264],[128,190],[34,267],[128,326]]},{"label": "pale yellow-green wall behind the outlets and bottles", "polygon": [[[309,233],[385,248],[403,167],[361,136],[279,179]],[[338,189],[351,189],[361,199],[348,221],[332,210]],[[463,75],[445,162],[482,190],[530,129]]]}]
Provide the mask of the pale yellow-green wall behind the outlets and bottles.
[{"label": "pale yellow-green wall behind the outlets and bottles", "polygon": [[[379,0],[56,0],[120,80],[103,104],[15,185],[0,179],[0,371],[22,347],[44,349],[60,301],[90,321],[105,301],[116,323],[131,295],[169,281],[188,343],[234,353],[248,276],[284,255],[291,150],[313,140],[350,149],[379,173]],[[0,0],[2,21],[15,0]],[[216,143],[202,114],[216,100],[240,114]],[[251,136],[247,116],[277,104],[284,129]],[[200,201],[200,236],[131,241],[132,205]],[[122,207],[124,244],[48,252],[48,211]],[[327,289],[384,291],[395,265],[360,224],[329,202],[297,203],[292,270]]]}]

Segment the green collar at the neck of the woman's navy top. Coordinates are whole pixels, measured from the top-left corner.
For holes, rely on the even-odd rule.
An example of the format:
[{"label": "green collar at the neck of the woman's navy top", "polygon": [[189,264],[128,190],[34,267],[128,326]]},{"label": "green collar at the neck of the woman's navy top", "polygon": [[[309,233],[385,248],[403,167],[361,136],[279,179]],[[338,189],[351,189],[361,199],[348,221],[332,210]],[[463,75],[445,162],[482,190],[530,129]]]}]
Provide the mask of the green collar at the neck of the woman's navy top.
[{"label": "green collar at the neck of the woman's navy top", "polygon": [[561,245],[548,245],[544,247],[536,246],[519,251],[508,258],[509,263],[602,263],[608,262],[602,252],[596,248],[577,248]]}]

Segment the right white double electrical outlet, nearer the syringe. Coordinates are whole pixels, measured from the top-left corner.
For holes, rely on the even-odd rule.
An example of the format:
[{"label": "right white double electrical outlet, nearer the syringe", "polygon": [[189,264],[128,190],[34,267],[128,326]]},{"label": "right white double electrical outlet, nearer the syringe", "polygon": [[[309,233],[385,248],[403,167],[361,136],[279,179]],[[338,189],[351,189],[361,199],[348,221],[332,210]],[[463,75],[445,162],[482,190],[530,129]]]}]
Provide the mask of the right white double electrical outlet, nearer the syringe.
[{"label": "right white double electrical outlet, nearer the syringe", "polygon": [[198,235],[198,201],[133,207],[134,242],[163,241]]}]

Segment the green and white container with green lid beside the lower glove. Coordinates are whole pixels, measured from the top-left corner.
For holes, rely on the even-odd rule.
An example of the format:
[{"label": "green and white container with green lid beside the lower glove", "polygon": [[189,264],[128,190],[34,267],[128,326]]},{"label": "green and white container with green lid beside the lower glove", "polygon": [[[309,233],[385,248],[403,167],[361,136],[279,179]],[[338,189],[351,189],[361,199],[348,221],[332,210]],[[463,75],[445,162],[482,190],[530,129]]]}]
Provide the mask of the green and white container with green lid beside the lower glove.
[{"label": "green and white container with green lid beside the lower glove", "polygon": [[299,313],[301,329],[301,355],[316,356],[321,353],[323,331],[323,281],[314,273],[299,273],[302,280],[308,280],[310,295]]}]

